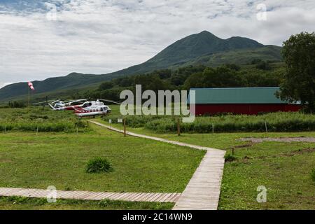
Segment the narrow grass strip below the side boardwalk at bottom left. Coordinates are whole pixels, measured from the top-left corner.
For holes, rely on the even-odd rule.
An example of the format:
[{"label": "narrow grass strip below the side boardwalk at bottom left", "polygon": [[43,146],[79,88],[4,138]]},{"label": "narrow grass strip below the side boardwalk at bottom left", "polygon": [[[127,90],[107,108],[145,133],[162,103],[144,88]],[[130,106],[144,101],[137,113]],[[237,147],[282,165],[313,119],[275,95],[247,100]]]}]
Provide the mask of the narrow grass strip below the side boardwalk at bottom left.
[{"label": "narrow grass strip below the side boardwalk at bottom left", "polygon": [[169,210],[173,203],[57,200],[27,197],[0,197],[0,210]]}]

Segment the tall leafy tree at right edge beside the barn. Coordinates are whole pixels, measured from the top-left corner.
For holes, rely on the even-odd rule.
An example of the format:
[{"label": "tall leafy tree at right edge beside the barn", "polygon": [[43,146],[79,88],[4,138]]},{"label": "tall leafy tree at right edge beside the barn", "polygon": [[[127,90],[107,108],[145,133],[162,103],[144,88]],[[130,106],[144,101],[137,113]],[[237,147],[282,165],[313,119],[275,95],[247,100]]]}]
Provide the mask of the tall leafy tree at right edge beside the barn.
[{"label": "tall leafy tree at right edge beside the barn", "polygon": [[279,97],[301,102],[307,111],[315,111],[315,33],[302,32],[283,42],[286,73]]}]

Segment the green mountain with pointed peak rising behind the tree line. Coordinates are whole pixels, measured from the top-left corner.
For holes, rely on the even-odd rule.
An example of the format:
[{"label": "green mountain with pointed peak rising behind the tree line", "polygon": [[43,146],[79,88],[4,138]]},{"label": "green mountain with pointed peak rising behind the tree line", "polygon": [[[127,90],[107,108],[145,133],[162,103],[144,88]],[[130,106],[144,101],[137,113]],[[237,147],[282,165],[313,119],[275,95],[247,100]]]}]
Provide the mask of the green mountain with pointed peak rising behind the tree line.
[{"label": "green mountain with pointed peak rising behind the tree line", "polygon": [[[69,95],[69,92],[95,87],[104,80],[148,73],[155,69],[176,69],[179,66],[197,64],[207,66],[227,63],[247,64],[252,59],[281,61],[280,50],[280,47],[265,46],[249,38],[235,36],[221,39],[208,31],[202,31],[200,34],[193,34],[176,41],[143,64],[102,75],[70,73],[64,77],[34,81],[33,84],[38,97],[43,95],[62,97]],[[7,85],[0,89],[0,101],[25,97],[27,91],[26,83]]]}]

